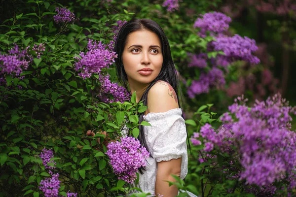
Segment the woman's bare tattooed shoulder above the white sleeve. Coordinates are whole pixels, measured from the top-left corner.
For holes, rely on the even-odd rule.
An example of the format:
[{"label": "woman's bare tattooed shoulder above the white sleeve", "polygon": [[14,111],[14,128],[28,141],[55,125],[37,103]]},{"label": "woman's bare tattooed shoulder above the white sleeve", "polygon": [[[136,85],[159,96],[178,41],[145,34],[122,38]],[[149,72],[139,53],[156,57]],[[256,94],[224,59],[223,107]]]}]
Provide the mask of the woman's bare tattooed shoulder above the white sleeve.
[{"label": "woman's bare tattooed shoulder above the white sleeve", "polygon": [[179,108],[175,90],[165,81],[156,82],[149,90],[147,99],[149,112],[166,112]]}]

